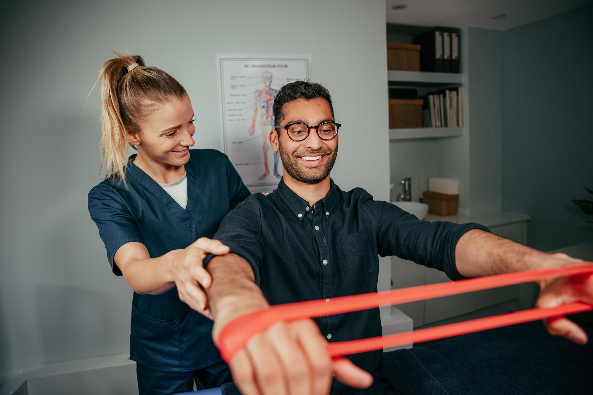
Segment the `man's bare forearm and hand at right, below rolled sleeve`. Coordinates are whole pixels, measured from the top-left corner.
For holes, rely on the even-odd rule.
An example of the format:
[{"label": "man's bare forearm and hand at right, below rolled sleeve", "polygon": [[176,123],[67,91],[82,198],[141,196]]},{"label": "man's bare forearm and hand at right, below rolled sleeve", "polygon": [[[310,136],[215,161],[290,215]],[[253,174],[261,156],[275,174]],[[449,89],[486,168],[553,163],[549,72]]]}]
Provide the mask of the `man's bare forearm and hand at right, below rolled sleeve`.
[{"label": "man's bare forearm and hand at right, below rolled sleeve", "polygon": [[[563,253],[547,253],[504,239],[482,230],[470,230],[455,246],[457,271],[466,277],[503,274],[581,264],[581,259]],[[551,278],[538,281],[540,296],[536,306],[550,308],[574,301],[593,304],[593,275]],[[579,344],[587,341],[585,331],[566,319],[544,321],[551,335],[562,336]]]}]

